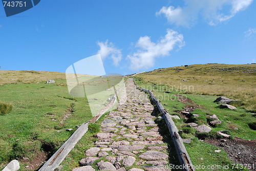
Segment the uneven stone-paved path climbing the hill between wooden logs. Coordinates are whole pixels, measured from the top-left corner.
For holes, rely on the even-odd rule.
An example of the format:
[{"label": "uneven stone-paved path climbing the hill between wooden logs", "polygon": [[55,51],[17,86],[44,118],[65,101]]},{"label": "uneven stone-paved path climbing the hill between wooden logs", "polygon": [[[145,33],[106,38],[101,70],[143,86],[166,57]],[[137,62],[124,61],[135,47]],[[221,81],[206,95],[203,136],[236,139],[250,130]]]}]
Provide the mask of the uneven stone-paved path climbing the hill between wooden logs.
[{"label": "uneven stone-paved path climbing the hill between wooden logs", "polygon": [[111,111],[101,124],[98,141],[86,151],[73,170],[154,171],[169,170],[167,144],[162,141],[152,116],[153,105],[147,95],[126,83],[127,101]]}]

